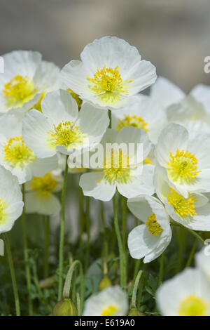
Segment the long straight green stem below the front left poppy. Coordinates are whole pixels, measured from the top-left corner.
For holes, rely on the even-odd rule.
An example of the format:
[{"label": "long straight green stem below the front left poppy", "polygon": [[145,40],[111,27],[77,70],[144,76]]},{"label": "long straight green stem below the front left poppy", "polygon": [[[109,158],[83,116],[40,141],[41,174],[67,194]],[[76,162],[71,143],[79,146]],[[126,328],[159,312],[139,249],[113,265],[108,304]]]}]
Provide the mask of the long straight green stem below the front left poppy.
[{"label": "long straight green stem below the front left poppy", "polygon": [[65,199],[66,199],[66,187],[68,177],[68,158],[66,156],[66,166],[64,171],[64,185],[62,190],[62,212],[60,222],[60,238],[59,238],[59,272],[58,272],[58,301],[62,298],[62,286],[63,286],[63,269],[64,269],[64,228],[65,228]]}]

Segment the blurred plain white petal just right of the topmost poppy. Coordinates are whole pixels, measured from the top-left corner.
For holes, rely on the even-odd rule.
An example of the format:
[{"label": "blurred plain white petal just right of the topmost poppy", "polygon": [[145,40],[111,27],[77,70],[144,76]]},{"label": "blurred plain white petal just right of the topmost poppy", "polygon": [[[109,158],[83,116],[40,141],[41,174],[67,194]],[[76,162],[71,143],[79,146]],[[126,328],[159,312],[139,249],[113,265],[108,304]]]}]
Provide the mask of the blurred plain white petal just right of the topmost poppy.
[{"label": "blurred plain white petal just right of the topmost poppy", "polygon": [[165,77],[158,77],[155,84],[151,86],[150,95],[154,102],[160,105],[163,110],[166,110],[169,105],[178,103],[186,96],[178,86]]}]

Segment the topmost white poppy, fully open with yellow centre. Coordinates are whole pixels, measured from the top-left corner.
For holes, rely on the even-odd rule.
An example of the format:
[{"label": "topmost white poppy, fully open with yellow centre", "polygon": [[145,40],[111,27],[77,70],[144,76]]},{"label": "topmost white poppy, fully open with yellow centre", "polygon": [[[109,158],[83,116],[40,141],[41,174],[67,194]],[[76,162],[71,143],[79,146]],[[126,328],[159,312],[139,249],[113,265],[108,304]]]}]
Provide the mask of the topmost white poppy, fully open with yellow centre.
[{"label": "topmost white poppy, fully open with yellow centre", "polygon": [[137,48],[117,37],[94,40],[80,58],[65,65],[61,79],[83,100],[105,109],[125,107],[156,79],[151,62],[141,60]]}]

